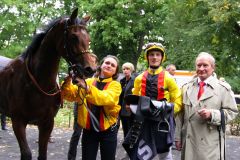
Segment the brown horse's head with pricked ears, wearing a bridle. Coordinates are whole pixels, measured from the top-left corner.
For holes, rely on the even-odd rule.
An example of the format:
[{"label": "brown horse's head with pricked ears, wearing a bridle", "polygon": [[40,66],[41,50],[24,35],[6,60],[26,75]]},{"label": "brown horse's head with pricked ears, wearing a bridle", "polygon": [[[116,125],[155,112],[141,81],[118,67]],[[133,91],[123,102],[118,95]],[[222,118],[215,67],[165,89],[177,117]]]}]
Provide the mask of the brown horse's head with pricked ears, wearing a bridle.
[{"label": "brown horse's head with pricked ears, wearing a bridle", "polygon": [[63,57],[68,62],[70,68],[78,66],[80,76],[89,77],[95,71],[89,54],[90,36],[86,29],[86,24],[90,16],[79,19],[78,9],[64,23],[64,50]]}]

